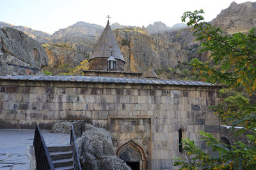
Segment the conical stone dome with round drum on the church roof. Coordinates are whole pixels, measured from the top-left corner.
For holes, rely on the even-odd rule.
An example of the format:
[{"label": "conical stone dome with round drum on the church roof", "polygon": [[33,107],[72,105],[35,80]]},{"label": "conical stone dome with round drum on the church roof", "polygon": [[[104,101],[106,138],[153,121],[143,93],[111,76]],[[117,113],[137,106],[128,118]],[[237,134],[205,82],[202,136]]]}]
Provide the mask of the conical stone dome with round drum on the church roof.
[{"label": "conical stone dome with round drum on the church roof", "polygon": [[93,49],[92,55],[89,57],[90,69],[107,70],[107,60],[111,55],[116,59],[116,69],[124,71],[125,60],[108,21],[97,45]]}]

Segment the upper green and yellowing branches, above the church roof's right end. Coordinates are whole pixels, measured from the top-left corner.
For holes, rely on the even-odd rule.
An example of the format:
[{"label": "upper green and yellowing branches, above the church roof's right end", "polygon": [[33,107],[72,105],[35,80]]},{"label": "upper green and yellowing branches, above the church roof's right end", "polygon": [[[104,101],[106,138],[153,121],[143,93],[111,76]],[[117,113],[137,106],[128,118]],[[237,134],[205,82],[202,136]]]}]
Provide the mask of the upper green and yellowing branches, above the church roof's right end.
[{"label": "upper green and yellowing branches, above the church roof's right end", "polygon": [[[188,25],[193,25],[196,41],[200,41],[202,48],[200,52],[211,51],[210,58],[214,62],[218,72],[212,67],[205,67],[205,64],[196,64],[195,68],[207,73],[214,73],[207,76],[206,81],[225,83],[228,87],[239,87],[243,85],[251,93],[256,89],[256,31],[251,29],[249,34],[238,32],[236,34],[223,36],[223,31],[215,28],[207,22],[200,14],[203,10],[185,12],[182,22],[189,18]],[[206,76],[206,75],[205,75]]]}]

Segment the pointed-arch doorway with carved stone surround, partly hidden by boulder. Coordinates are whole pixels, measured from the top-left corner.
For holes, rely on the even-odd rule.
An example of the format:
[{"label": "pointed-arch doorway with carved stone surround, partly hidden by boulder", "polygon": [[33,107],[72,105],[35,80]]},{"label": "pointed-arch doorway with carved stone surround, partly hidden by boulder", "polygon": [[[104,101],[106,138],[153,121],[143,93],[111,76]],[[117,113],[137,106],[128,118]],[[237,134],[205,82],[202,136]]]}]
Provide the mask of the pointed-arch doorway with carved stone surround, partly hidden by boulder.
[{"label": "pointed-arch doorway with carved stone surround, partly hidden by boulder", "polygon": [[116,155],[124,160],[132,170],[146,169],[146,155],[143,148],[134,141],[129,141],[116,150]]}]

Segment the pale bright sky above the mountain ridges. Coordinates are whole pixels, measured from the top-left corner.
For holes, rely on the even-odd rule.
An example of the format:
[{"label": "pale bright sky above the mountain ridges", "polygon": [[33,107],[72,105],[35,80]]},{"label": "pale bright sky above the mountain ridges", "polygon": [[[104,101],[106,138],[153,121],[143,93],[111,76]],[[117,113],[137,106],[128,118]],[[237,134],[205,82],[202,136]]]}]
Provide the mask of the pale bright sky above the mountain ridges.
[{"label": "pale bright sky above the mountain ridges", "polygon": [[0,22],[22,25],[53,34],[59,29],[83,21],[106,26],[113,24],[142,27],[161,21],[172,27],[180,23],[185,11],[203,9],[205,21],[211,21],[232,1],[243,0],[0,0]]}]

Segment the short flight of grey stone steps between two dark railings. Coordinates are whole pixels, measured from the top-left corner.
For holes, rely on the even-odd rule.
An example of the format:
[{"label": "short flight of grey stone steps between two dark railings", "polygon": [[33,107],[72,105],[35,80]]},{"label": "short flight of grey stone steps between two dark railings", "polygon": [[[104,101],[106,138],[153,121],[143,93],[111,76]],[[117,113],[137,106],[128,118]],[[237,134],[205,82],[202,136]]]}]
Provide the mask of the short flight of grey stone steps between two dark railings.
[{"label": "short flight of grey stone steps between two dark railings", "polygon": [[73,170],[72,148],[68,146],[47,147],[56,170]]}]

